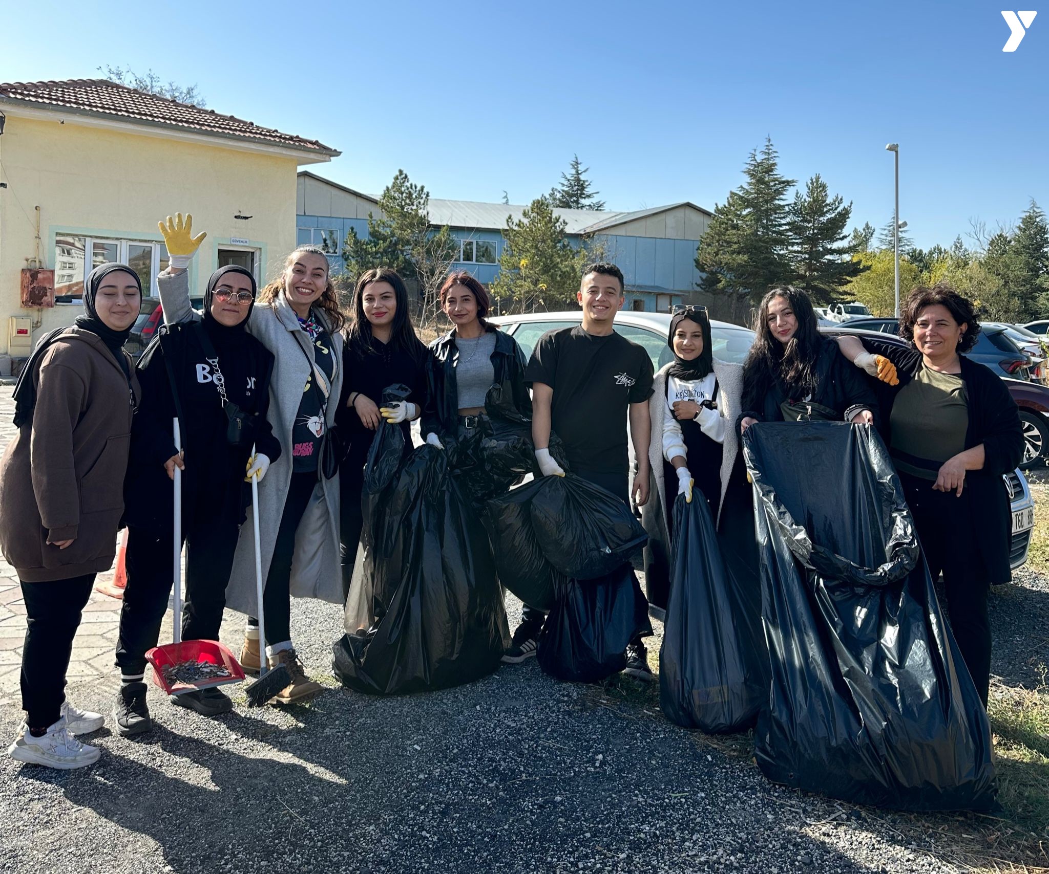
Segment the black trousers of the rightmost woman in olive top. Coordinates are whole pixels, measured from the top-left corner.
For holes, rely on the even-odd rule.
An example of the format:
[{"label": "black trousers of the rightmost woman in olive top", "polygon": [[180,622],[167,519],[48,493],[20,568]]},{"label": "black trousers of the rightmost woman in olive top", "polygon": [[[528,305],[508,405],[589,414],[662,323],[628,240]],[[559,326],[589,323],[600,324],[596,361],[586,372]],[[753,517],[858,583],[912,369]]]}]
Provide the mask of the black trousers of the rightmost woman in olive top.
[{"label": "black trousers of the rightmost woman in olive top", "polygon": [[968,507],[969,497],[964,490],[961,498],[952,491],[935,491],[930,480],[906,474],[900,475],[900,481],[928,572],[934,581],[943,573],[950,630],[986,707],[990,685],[990,573],[977,548],[979,537]]}]

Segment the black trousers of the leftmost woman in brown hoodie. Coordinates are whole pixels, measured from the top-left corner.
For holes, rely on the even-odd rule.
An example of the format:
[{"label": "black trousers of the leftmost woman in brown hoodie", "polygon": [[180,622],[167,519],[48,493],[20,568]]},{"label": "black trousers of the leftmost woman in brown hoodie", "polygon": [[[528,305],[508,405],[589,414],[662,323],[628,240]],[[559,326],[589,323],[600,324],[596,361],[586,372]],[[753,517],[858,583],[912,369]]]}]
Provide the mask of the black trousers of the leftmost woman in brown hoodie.
[{"label": "black trousers of the leftmost woman in brown hoodie", "polygon": [[93,586],[93,573],[51,583],[22,583],[26,616],[22,709],[30,728],[47,728],[59,721],[72,638]]}]

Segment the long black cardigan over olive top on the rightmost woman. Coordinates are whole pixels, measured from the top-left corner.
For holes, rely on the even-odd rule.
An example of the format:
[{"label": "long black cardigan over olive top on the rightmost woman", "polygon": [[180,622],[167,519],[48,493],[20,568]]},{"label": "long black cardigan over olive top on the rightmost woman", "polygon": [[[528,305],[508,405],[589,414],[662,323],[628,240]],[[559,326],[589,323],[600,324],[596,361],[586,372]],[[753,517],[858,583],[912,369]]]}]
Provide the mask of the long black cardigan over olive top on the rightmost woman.
[{"label": "long black cardigan over olive top on the rightmost woman", "polygon": [[[865,336],[860,340],[869,352],[884,355],[896,365],[900,379],[899,386],[878,384],[885,411],[883,433],[887,443],[893,401],[900,389],[918,373],[922,355],[914,346],[902,347]],[[1005,383],[993,371],[965,355],[958,358],[969,413],[965,449],[970,450],[981,443],[984,447],[984,466],[980,471],[966,471],[965,488],[959,500],[965,501],[972,514],[976,530],[984,534],[980,539],[980,553],[990,572],[990,582],[1008,583],[1012,578],[1009,567],[1012,514],[1002,476],[1012,471],[1024,457],[1020,411]],[[859,371],[859,368],[855,369]]]}]

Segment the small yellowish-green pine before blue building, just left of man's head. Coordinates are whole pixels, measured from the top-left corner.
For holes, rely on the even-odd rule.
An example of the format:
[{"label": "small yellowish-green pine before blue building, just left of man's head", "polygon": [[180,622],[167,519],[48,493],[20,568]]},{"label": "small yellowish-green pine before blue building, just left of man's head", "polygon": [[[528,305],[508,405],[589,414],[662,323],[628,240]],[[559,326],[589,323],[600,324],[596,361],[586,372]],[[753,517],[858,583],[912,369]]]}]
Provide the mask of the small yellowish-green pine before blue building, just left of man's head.
[{"label": "small yellowish-green pine before blue building, just left of man's head", "polygon": [[533,200],[519,219],[507,219],[506,245],[492,283],[493,296],[504,300],[504,312],[562,309],[576,302],[583,264],[596,256],[585,241],[573,246],[566,226],[547,197]]}]

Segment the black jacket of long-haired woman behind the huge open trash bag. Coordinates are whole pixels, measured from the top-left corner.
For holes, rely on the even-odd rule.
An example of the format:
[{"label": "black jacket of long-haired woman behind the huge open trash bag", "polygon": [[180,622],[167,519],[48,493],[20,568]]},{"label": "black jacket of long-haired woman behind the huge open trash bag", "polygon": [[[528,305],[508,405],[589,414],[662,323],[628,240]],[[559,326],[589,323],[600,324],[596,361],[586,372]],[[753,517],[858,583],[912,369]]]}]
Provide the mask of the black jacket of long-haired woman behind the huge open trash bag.
[{"label": "black jacket of long-haired woman behind the huge open trash bag", "polygon": [[[779,405],[788,398],[778,381],[770,375],[768,388],[764,389],[761,380],[752,378],[753,374],[748,378],[748,370],[750,367],[744,369],[743,412],[736,425],[748,416],[758,421],[783,421]],[[834,410],[842,421],[851,421],[861,410],[870,410],[875,423],[879,421],[878,400],[863,373],[841,355],[833,340],[826,337],[820,338],[816,357],[816,389],[812,402]]]}]

